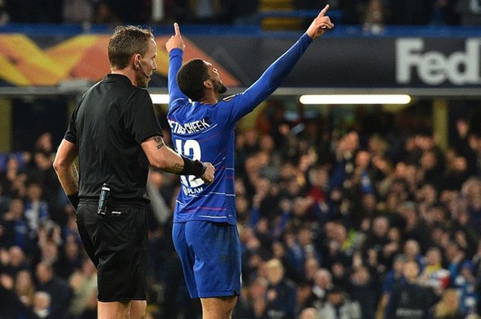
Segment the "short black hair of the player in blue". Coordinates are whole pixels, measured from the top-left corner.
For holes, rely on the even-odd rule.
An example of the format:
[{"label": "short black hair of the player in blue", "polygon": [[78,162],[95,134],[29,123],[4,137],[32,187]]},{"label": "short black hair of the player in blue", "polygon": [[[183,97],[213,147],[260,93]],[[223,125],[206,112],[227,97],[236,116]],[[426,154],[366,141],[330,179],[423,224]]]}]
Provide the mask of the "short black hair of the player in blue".
[{"label": "short black hair of the player in blue", "polygon": [[207,65],[201,59],[189,60],[177,72],[179,88],[192,101],[199,101],[204,96],[203,82],[208,78]]}]

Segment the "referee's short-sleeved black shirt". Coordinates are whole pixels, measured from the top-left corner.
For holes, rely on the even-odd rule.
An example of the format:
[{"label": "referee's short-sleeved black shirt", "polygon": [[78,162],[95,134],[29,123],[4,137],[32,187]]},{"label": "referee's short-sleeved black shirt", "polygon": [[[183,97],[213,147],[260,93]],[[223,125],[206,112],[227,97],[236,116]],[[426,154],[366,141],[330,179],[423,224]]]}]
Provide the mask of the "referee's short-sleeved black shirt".
[{"label": "referee's short-sleeved black shirt", "polygon": [[82,96],[65,139],[77,144],[79,197],[97,198],[107,182],[110,196],[147,199],[148,159],[140,146],[163,136],[152,100],[120,74],[109,74]]}]

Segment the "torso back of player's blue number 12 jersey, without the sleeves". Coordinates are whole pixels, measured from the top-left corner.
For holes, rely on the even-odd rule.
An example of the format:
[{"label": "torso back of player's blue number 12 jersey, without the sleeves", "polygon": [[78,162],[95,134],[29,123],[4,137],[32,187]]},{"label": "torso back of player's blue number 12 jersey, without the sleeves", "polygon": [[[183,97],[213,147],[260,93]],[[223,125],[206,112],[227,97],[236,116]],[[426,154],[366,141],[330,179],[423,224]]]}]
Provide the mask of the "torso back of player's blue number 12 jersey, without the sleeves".
[{"label": "torso back of player's blue number 12 jersey, without the sleeves", "polygon": [[234,203],[234,125],[217,104],[191,104],[184,99],[171,107],[168,122],[175,150],[193,160],[210,162],[214,182],[181,176],[175,222],[209,220],[236,223]]}]

